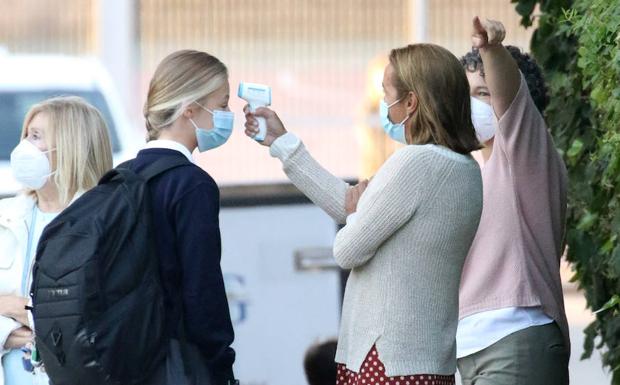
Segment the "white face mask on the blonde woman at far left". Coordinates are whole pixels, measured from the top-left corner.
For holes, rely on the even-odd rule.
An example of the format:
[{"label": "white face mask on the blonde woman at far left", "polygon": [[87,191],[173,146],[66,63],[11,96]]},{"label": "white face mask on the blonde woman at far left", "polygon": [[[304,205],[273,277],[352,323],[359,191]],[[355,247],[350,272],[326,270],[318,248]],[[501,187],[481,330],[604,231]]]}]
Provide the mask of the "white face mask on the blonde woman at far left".
[{"label": "white face mask on the blonde woman at far left", "polygon": [[38,190],[53,174],[46,153],[24,139],[11,152],[11,170],[17,181],[25,187]]}]

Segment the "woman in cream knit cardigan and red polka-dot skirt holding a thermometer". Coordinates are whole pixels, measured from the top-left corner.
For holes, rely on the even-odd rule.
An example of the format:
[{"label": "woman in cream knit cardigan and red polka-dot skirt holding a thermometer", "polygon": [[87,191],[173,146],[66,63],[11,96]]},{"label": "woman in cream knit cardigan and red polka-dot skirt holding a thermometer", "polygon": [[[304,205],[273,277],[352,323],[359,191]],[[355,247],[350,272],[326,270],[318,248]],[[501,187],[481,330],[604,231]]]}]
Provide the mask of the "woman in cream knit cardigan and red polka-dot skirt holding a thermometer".
[{"label": "woman in cream knit cardigan and red polka-dot skirt holding a thermometer", "polygon": [[368,183],[352,187],[323,169],[269,109],[262,144],[290,180],[338,223],[334,257],[351,269],[336,361],[338,385],[452,384],[459,280],[482,209],[479,148],[469,86],[446,49],[394,49],[383,78],[381,120],[404,126],[408,146]]}]

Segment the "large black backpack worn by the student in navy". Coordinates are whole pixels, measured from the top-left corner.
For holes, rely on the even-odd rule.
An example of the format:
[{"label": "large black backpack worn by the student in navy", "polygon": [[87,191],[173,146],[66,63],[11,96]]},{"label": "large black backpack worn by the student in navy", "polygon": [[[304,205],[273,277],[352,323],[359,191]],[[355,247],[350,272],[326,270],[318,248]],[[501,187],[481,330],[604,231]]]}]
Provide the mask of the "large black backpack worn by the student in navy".
[{"label": "large black backpack worn by the student in navy", "polygon": [[36,347],[54,385],[139,384],[169,340],[147,182],[125,163],[58,215],[37,248],[30,291]]}]

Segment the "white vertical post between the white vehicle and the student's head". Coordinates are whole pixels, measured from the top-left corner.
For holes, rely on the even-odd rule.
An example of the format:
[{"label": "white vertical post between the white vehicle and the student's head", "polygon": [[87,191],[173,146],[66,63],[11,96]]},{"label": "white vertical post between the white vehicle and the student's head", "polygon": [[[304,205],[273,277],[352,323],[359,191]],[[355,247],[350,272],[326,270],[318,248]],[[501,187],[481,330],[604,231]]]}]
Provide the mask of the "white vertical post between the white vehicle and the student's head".
[{"label": "white vertical post between the white vehicle and the student's head", "polygon": [[99,0],[97,46],[101,62],[110,72],[125,113],[136,118],[138,101],[136,0]]}]

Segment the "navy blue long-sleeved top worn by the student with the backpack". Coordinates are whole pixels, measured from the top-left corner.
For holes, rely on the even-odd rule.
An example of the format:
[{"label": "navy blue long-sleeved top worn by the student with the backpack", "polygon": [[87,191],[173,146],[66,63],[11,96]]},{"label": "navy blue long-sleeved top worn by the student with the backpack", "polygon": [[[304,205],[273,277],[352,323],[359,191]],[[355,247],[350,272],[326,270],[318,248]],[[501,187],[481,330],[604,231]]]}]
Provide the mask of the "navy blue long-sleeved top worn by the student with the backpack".
[{"label": "navy blue long-sleeved top worn by the student with the backpack", "polygon": [[[156,159],[185,156],[146,149],[131,167],[140,171]],[[234,378],[234,339],[220,267],[220,194],[217,184],[189,160],[149,182],[168,335],[178,338],[181,317],[187,342],[202,353],[215,384]]]}]

